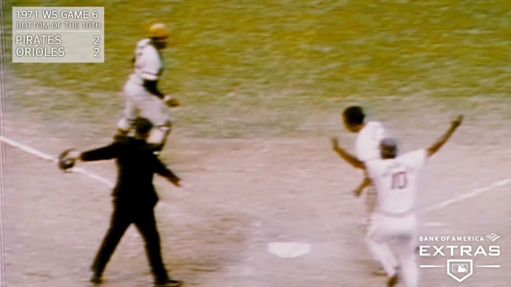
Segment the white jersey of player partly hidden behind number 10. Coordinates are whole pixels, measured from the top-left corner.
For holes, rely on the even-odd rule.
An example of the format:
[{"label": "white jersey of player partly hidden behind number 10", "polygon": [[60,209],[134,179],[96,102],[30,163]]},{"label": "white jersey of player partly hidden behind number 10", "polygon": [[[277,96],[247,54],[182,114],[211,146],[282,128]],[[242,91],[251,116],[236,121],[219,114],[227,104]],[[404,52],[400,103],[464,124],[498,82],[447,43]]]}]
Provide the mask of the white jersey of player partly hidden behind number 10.
[{"label": "white jersey of player partly hidden behind number 10", "polygon": [[359,131],[355,141],[355,154],[360,161],[379,159],[380,141],[385,136],[385,129],[379,122],[367,122]]}]

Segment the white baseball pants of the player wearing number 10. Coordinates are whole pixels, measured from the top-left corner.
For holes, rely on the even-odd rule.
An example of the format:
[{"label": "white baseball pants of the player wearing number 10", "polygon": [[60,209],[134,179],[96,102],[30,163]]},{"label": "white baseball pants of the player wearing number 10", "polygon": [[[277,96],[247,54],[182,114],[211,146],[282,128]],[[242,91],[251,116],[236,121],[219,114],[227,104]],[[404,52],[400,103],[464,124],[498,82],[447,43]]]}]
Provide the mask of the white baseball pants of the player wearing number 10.
[{"label": "white baseball pants of the player wearing number 10", "polygon": [[378,211],[371,217],[366,243],[369,251],[378,258],[388,277],[396,275],[397,261],[389,244],[398,243],[401,277],[407,287],[419,284],[419,265],[415,254],[416,219],[409,213],[403,217],[391,217]]}]

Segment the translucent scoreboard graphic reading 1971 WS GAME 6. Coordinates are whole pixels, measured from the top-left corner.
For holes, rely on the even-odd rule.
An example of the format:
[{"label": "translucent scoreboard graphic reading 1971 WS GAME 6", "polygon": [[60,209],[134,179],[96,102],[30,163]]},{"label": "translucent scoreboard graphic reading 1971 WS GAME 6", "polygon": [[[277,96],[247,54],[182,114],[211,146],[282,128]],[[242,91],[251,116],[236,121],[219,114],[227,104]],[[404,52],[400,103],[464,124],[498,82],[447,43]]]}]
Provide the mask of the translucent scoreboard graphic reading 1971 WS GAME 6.
[{"label": "translucent scoreboard graphic reading 1971 WS GAME 6", "polygon": [[13,7],[13,63],[104,63],[104,7]]}]

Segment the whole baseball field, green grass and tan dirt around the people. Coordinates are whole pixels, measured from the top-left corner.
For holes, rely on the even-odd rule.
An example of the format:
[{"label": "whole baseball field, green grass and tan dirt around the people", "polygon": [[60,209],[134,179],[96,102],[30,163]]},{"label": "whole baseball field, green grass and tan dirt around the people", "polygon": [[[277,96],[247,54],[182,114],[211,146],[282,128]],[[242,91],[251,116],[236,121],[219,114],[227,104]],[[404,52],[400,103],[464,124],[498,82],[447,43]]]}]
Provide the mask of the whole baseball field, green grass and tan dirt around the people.
[{"label": "whole baseball field, green grass and tan dirt around the people", "polygon": [[[422,268],[421,286],[507,287],[511,281],[511,4],[463,1],[7,1],[3,136],[52,156],[110,142],[134,44],[154,21],[172,28],[159,83],[179,99],[158,178],[164,260],[185,286],[385,286],[363,238],[362,180],[332,151],[353,151],[340,121],[365,108],[401,152],[463,125],[428,161],[419,235],[501,237],[461,283]],[[104,6],[105,63],[11,63],[13,6]],[[6,145],[6,286],[87,286],[109,224],[110,188]],[[114,163],[79,163],[110,181]],[[421,211],[422,210],[422,211]],[[267,246],[312,246],[280,258]],[[431,243],[424,243],[432,245]],[[463,243],[460,243],[463,244]],[[479,245],[467,242],[466,245]],[[420,257],[422,265],[446,259]],[[476,265],[499,268],[476,268]],[[148,286],[142,238],[130,227],[106,287]]]}]

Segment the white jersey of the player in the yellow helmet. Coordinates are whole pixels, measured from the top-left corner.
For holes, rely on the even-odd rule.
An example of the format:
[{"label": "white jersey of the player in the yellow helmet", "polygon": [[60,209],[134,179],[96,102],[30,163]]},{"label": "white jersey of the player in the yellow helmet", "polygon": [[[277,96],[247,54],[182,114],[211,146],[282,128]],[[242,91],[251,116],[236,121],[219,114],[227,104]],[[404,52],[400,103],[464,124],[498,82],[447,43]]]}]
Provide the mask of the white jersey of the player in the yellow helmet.
[{"label": "white jersey of the player in the yellow helmet", "polygon": [[142,85],[144,80],[156,81],[161,76],[163,68],[161,54],[151,45],[151,40],[140,40],[136,43],[134,70],[128,81],[136,85]]}]

